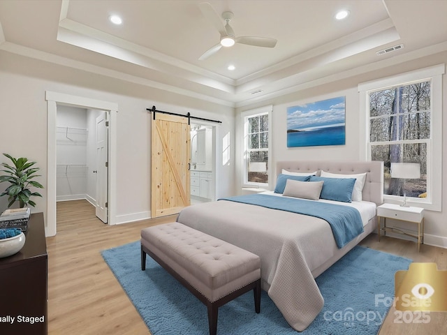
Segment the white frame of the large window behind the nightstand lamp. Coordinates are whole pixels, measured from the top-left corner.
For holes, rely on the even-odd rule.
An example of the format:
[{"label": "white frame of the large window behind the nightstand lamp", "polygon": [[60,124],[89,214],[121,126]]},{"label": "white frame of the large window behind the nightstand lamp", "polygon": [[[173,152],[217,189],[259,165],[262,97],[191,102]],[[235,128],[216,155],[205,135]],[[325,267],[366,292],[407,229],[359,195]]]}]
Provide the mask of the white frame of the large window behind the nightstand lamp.
[{"label": "white frame of the large window behind the nightstand lamp", "polygon": [[[442,75],[445,64],[431,66],[420,70],[402,73],[381,80],[358,84],[360,93],[360,126],[365,129],[360,137],[360,159],[369,161],[371,150],[369,145],[369,91],[386,89],[411,82],[431,80],[431,121],[430,140],[427,141],[427,198],[406,198],[411,206],[423,207],[432,211],[441,211],[442,203]],[[436,176],[436,177],[435,177]],[[400,204],[402,196],[383,195],[387,203]]]}]

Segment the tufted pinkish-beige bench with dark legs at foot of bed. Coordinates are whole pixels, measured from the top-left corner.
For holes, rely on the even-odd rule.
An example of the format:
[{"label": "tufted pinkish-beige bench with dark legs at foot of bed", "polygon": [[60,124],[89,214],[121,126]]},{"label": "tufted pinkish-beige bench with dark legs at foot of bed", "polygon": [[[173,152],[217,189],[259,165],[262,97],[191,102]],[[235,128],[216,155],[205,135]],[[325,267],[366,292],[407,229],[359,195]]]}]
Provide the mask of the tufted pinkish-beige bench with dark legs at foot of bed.
[{"label": "tufted pinkish-beige bench with dark legs at foot of bed", "polygon": [[258,255],[182,223],[141,230],[141,269],[146,254],[207,306],[210,335],[217,334],[219,306],[254,290],[261,311],[261,260]]}]

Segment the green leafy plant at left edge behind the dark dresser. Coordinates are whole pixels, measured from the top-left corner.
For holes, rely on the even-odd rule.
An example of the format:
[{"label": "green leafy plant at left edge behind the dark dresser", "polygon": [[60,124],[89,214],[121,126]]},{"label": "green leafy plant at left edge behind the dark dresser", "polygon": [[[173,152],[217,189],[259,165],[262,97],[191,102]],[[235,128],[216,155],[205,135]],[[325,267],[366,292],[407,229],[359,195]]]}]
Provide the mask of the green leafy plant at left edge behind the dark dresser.
[{"label": "green leafy plant at left edge behind the dark dresser", "polygon": [[8,195],[8,207],[11,207],[14,202],[18,201],[20,208],[27,206],[28,204],[32,207],[36,206],[36,202],[30,200],[32,196],[41,197],[42,195],[37,192],[31,192],[30,187],[34,186],[36,188],[43,188],[42,184],[37,181],[31,180],[35,177],[40,177],[36,174],[40,168],[33,168],[36,162],[29,162],[28,158],[14,158],[8,154],[3,154],[8,157],[13,165],[8,165],[7,163],[1,163],[3,168],[6,170],[1,170],[5,172],[6,175],[0,176],[0,183],[3,181],[8,181],[10,186],[6,188],[0,196]]}]

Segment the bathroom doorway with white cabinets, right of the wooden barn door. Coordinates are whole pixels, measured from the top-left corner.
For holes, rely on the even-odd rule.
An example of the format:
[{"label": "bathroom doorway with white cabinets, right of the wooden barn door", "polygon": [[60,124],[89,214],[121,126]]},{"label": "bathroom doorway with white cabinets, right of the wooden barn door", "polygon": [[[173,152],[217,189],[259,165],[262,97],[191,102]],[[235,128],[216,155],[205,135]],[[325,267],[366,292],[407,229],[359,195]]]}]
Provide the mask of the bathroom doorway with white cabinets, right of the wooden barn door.
[{"label": "bathroom doorway with white cabinets, right of the wooden barn door", "polygon": [[216,200],[216,126],[191,121],[191,204]]}]

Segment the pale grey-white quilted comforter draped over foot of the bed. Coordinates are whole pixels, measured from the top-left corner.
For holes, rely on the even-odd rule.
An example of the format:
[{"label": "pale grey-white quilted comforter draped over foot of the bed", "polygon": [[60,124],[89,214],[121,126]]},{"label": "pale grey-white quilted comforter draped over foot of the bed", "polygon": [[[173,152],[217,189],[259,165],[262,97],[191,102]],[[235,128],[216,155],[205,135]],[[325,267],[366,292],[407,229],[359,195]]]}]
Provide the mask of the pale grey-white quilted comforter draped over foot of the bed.
[{"label": "pale grey-white quilted comforter draped over foot of the bed", "polygon": [[186,207],[177,221],[259,255],[263,290],[293,329],[323,308],[312,271],[339,249],[321,218],[219,200]]}]

